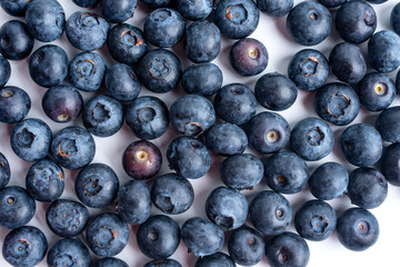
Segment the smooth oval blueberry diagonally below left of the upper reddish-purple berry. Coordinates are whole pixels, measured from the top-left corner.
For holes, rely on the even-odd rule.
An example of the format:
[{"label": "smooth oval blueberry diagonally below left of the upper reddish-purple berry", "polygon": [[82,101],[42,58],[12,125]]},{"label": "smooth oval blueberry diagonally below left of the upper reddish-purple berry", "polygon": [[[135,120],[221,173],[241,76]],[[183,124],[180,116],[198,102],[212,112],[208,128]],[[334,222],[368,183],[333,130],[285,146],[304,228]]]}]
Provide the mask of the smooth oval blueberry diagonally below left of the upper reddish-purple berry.
[{"label": "smooth oval blueberry diagonally below left of the upper reddish-purple berry", "polygon": [[192,65],[184,69],[181,86],[188,93],[212,96],[221,88],[222,79],[222,71],[217,65]]}]

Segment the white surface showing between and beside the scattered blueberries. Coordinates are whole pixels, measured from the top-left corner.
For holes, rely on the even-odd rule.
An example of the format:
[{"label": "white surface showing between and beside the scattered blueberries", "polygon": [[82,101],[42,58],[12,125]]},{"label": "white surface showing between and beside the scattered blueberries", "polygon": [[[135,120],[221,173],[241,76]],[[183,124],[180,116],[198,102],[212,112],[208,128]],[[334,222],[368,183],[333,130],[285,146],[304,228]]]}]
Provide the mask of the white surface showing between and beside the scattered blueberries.
[{"label": "white surface showing between and beside the scattered blueberries", "polygon": [[[62,4],[66,11],[67,18],[74,11],[80,10],[79,7],[74,6],[71,0],[59,0],[59,2]],[[294,1],[294,3],[298,3],[299,1]],[[378,13],[378,29],[388,29],[389,27],[389,14],[392,9],[392,7],[397,2],[394,0],[390,0],[383,4],[373,4],[373,8],[376,9]],[[99,8],[96,9],[96,11],[99,13]],[[130,19],[128,22],[132,23],[139,28],[143,27],[143,21],[146,18],[146,10],[142,6],[138,6],[138,9],[136,10],[134,17]],[[8,20],[14,19],[10,16],[8,16],[3,10],[0,10],[0,24],[4,23]],[[264,43],[269,51],[269,65],[267,70],[264,70],[262,73],[267,72],[273,72],[278,71],[281,73],[287,75],[287,67],[289,63],[290,58],[299,50],[303,49],[304,47],[294,43],[290,40],[288,37],[287,30],[286,30],[286,17],[280,19],[270,18],[263,13],[261,13],[260,17],[260,23],[258,29],[254,31],[254,33],[251,36],[252,38],[256,38]],[[324,40],[322,43],[313,47],[321,52],[323,52],[327,57],[329,56],[329,52],[331,48],[342,40],[338,37],[336,33],[334,27],[332,29],[332,33],[330,37]],[[222,38],[222,49],[219,55],[219,57],[213,61],[217,63],[223,71],[223,85],[230,83],[230,82],[242,82],[247,86],[249,86],[251,89],[253,89],[256,81],[258,78],[262,75],[259,75],[257,77],[250,77],[250,78],[243,78],[239,75],[234,73],[234,71],[231,69],[229,65],[229,50],[231,44],[234,41],[229,40],[227,38]],[[69,56],[69,60],[71,60],[76,55],[78,55],[80,51],[72,48],[67,38],[66,34],[61,37],[61,39],[54,41],[53,43],[61,46],[66,49]],[[34,49],[42,46],[43,43],[36,41]],[[367,56],[367,42],[362,43],[360,46],[362,49],[364,56]],[[181,60],[183,67],[188,67],[191,63],[184,59],[184,52],[182,42],[178,43],[172,49],[174,52],[177,52]],[[116,63],[109,56],[108,56],[108,49],[103,47],[101,50],[97,51],[100,55],[102,55],[107,61],[108,65]],[[82,126],[81,120],[69,125],[61,125],[61,123],[54,123],[50,119],[48,119],[42,111],[41,108],[41,98],[46,91],[44,88],[41,88],[37,86],[29,76],[28,71],[28,59],[21,60],[21,61],[12,61],[11,62],[12,68],[12,75],[11,79],[8,82],[8,86],[18,86],[23,88],[28,95],[30,96],[32,100],[32,108],[30,112],[28,113],[27,118],[40,118],[43,119],[49,126],[51,127],[52,131],[56,134],[61,128],[69,126],[69,125],[79,125]],[[394,78],[396,72],[389,73],[391,78]],[[329,81],[334,81],[336,78],[333,75],[330,76]],[[101,92],[104,92],[103,89],[101,89]],[[172,101],[178,97],[182,96],[184,92],[181,88],[177,88],[171,92],[163,93],[163,95],[156,95],[157,97],[161,98],[166,101],[168,107],[172,103]],[[153,95],[149,92],[147,89],[142,89],[141,96],[146,95]],[[299,91],[299,97],[296,101],[296,103],[288,110],[280,112],[286,117],[286,119],[290,122],[291,127],[293,127],[299,120],[313,116],[317,117],[317,113],[313,110],[312,101],[313,101],[313,92],[303,92]],[[88,100],[92,93],[86,93],[82,92],[82,96],[84,100]],[[397,98],[393,105],[399,105],[399,99]],[[392,105],[392,106],[393,106]],[[263,110],[261,107],[259,107],[259,111]],[[360,115],[356,119],[354,122],[367,122],[373,125],[374,119],[377,118],[378,113],[368,113],[364,110],[361,110]],[[332,126],[336,140],[338,140],[340,134],[344,129],[344,127],[334,127]],[[26,174],[31,166],[30,162],[26,162],[21,159],[19,159],[13,151],[11,150],[9,138],[10,138],[10,131],[12,129],[12,126],[1,123],[0,122],[0,151],[6,155],[8,158],[10,166],[11,166],[11,180],[10,186],[18,185],[24,187],[24,177]],[[170,170],[167,166],[167,159],[166,159],[166,149],[170,140],[177,136],[177,132],[170,127],[168,132],[159,138],[153,140],[156,145],[160,147],[162,150],[163,156],[163,167],[160,172],[166,174]],[[124,148],[131,144],[132,141],[137,140],[137,138],[133,136],[132,132],[129,131],[128,127],[124,125],[123,128],[114,136],[109,138],[98,138],[94,137],[96,144],[97,144],[97,151],[93,162],[103,162],[112,167],[116,172],[119,176],[120,184],[122,185],[124,181],[128,181],[130,178],[124,174],[121,165],[121,156]],[[251,148],[248,148],[248,152],[254,152]],[[261,156],[259,154],[256,154],[258,156]],[[179,216],[172,216],[173,219],[176,219],[179,225],[181,226],[183,221],[191,217],[191,216],[202,216],[204,215],[204,200],[207,196],[210,194],[210,191],[217,187],[222,185],[219,178],[219,166],[220,162],[223,160],[223,157],[216,157],[213,155],[213,164],[211,167],[211,170],[208,172],[207,176],[197,179],[197,180],[190,180],[194,187],[196,192],[196,199],[193,206],[190,208],[189,211],[179,215]],[[340,148],[338,146],[338,142],[336,142],[333,151],[324,159],[317,161],[317,162],[308,162],[310,167],[310,171],[313,171],[317,166],[319,166],[321,162],[324,161],[339,161],[347,167],[349,171],[354,169],[354,166],[351,166],[350,164],[347,164],[341,155]],[[74,177],[77,176],[78,171],[70,171],[66,170],[66,189],[61,198],[69,198],[69,199],[77,199],[74,190],[73,190],[73,181]],[[261,190],[268,189],[264,181],[262,181],[260,185],[256,187],[253,191],[244,191],[243,194],[248,197],[249,200],[253,198],[253,196]],[[306,188],[300,194],[297,194],[294,196],[286,195],[286,197],[290,200],[293,211],[296,211],[299,206],[307,199],[311,199],[312,196],[309,192],[309,190]],[[347,197],[342,197],[340,199],[336,199],[333,201],[329,201],[337,210],[338,214],[341,214],[344,209],[351,207],[350,200]],[[380,224],[380,237],[377,241],[377,244],[371,247],[370,249],[362,251],[362,253],[354,253],[347,250],[344,247],[341,246],[341,244],[338,241],[336,235],[333,234],[332,237],[324,241],[308,241],[308,245],[310,247],[311,257],[309,261],[309,266],[381,266],[382,264],[384,266],[399,266],[399,251],[398,251],[398,244],[400,239],[400,211],[398,208],[398,205],[400,202],[400,188],[389,186],[389,195],[387,200],[381,205],[380,207],[372,209],[371,212],[376,215],[376,217],[379,220]],[[49,205],[48,204],[41,204],[37,201],[37,214],[36,217],[29,222],[29,225],[33,225],[39,227],[43,233],[46,234],[48,241],[49,241],[49,248],[60,239],[60,237],[57,237],[54,234],[50,231],[46,224],[44,219],[44,212]],[[108,211],[112,211],[113,208],[109,207],[106,209]],[[101,212],[101,210],[94,210],[90,209],[91,215]],[[159,214],[156,208],[153,208],[153,214]],[[121,254],[119,254],[117,257],[126,260],[129,266],[132,267],[141,267],[150,259],[143,256],[136,244],[136,230],[137,226],[130,227],[131,235],[129,239],[128,246],[123,249]],[[291,231],[296,231],[293,228],[293,225],[290,227]],[[2,239],[7,235],[9,230],[0,228],[0,245],[2,245]],[[79,236],[78,239],[84,241],[83,235]],[[227,247],[223,247],[224,253],[227,253]],[[93,259],[97,259],[98,257],[93,255]],[[178,259],[183,267],[190,267],[194,266],[196,257],[191,254],[187,254],[186,246],[181,243],[178,250],[172,255],[171,258]],[[10,266],[8,265],[2,257],[0,257],[0,266],[6,267]],[[46,258],[39,265],[40,267],[47,266]],[[266,257],[262,259],[262,261],[257,266],[268,266],[268,263],[266,260]]]}]

